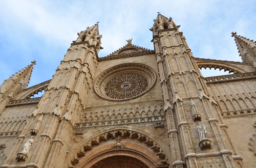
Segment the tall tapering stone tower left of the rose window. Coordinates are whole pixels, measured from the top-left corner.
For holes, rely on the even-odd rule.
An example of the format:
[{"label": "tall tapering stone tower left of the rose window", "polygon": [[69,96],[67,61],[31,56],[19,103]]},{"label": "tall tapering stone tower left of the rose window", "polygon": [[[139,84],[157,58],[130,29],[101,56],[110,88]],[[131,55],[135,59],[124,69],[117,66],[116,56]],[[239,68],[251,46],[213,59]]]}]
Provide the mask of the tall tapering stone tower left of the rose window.
[{"label": "tall tapering stone tower left of the rose window", "polygon": [[[85,108],[92,87],[100,39],[98,24],[78,33],[5,164],[37,167],[55,167],[56,162],[62,164],[73,126]],[[20,152],[31,135],[33,144],[29,151]]]}]

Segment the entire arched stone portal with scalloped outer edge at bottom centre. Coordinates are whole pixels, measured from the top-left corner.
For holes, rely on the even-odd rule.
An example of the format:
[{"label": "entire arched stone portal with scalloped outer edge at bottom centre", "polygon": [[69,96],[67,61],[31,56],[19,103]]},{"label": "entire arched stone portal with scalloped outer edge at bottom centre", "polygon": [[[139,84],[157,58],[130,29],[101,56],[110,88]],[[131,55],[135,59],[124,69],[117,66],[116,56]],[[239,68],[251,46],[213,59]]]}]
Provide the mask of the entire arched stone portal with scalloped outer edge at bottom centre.
[{"label": "entire arched stone portal with scalloped outer edge at bottom centre", "polygon": [[141,132],[122,129],[108,131],[82,144],[72,152],[68,168],[169,166],[159,144]]}]

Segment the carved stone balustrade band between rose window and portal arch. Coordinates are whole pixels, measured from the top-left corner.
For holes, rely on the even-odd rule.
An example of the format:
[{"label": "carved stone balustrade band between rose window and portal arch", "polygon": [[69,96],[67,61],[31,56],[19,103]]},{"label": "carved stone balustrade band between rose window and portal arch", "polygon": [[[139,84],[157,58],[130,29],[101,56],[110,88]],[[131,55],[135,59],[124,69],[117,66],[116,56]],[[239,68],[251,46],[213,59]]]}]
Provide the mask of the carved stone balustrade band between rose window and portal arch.
[{"label": "carved stone balustrade band between rose window and portal arch", "polygon": [[165,121],[165,116],[152,116],[133,119],[119,119],[97,122],[76,123],[75,128],[90,128],[90,127],[102,127],[111,125],[124,125],[124,124],[138,124],[146,122]]}]

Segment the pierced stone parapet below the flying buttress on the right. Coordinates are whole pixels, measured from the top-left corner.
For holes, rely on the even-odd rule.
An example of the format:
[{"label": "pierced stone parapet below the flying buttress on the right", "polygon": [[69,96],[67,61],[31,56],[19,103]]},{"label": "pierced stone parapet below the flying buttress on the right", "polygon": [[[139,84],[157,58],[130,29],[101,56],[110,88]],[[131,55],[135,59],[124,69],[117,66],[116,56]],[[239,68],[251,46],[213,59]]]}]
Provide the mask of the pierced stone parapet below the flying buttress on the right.
[{"label": "pierced stone parapet below the flying buttress on the right", "polygon": [[256,72],[236,73],[231,75],[205,77],[204,81],[206,83],[215,83],[215,82],[225,82],[225,81],[231,81],[231,80],[233,81],[233,80],[243,80],[243,79],[251,79],[251,78],[256,78]]}]

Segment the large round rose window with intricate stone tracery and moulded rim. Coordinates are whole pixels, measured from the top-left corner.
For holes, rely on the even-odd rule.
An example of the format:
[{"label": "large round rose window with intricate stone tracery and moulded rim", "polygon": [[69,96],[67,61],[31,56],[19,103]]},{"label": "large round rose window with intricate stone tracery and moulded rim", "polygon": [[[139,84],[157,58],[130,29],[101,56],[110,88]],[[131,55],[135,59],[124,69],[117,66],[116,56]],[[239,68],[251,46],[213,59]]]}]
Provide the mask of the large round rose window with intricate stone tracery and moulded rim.
[{"label": "large round rose window with intricate stone tracery and moulded rim", "polygon": [[124,64],[101,74],[95,82],[96,93],[109,100],[127,100],[148,91],[156,81],[155,72],[141,64]]}]

